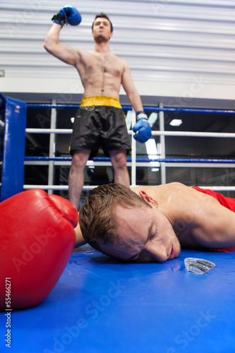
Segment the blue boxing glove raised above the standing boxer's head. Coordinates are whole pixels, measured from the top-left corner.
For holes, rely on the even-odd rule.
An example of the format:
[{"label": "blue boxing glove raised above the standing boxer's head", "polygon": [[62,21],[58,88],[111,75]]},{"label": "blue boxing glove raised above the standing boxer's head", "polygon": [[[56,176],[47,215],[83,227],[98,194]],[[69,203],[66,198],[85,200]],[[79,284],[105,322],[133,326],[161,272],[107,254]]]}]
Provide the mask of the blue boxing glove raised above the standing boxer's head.
[{"label": "blue boxing glove raised above the standing boxer's head", "polygon": [[52,20],[62,27],[66,22],[68,22],[69,25],[79,25],[82,16],[80,16],[80,13],[74,6],[68,5],[61,8],[59,13],[52,17]]}]

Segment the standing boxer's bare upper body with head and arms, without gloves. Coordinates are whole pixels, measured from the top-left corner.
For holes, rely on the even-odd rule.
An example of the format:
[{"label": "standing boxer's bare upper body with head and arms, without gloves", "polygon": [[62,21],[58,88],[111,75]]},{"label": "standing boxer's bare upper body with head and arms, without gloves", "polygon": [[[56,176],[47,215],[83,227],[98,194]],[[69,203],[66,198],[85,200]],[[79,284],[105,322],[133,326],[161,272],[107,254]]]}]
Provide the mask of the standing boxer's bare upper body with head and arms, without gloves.
[{"label": "standing boxer's bare upper body with head and arms, without gloves", "polygon": [[109,49],[112,32],[107,23],[109,21],[106,18],[95,20],[92,30],[95,49],[92,52],[60,43],[61,25],[57,23],[54,23],[47,33],[44,48],[57,59],[76,67],[84,87],[83,97],[105,95],[119,99],[122,85],[133,109],[138,112],[143,110],[140,95],[131,78],[127,62],[114,55]]}]

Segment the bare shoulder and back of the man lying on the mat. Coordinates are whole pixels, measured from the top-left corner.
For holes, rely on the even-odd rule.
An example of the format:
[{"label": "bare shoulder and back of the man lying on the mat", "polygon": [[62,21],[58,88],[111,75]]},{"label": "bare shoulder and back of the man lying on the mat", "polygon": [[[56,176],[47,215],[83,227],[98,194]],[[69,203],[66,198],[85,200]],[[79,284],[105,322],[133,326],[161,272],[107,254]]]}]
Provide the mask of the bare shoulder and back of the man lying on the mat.
[{"label": "bare shoulder and back of the man lying on the mat", "polygon": [[235,246],[235,213],[212,196],[180,183],[138,186],[158,203],[178,237],[181,246],[197,249],[224,249]]}]

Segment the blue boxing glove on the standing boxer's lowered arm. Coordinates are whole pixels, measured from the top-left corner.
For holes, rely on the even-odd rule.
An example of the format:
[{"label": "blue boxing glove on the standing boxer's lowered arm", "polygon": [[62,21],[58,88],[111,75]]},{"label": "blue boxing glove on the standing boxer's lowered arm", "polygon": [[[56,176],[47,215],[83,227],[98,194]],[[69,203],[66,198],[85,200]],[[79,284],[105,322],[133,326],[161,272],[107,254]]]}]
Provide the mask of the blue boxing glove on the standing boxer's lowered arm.
[{"label": "blue boxing glove on the standing boxer's lowered arm", "polygon": [[[145,143],[152,136],[152,130],[147,121],[147,115],[142,111],[136,112],[136,120],[137,122],[133,126],[133,131],[135,132],[133,138],[138,142]],[[138,133],[136,133],[137,131]]]}]

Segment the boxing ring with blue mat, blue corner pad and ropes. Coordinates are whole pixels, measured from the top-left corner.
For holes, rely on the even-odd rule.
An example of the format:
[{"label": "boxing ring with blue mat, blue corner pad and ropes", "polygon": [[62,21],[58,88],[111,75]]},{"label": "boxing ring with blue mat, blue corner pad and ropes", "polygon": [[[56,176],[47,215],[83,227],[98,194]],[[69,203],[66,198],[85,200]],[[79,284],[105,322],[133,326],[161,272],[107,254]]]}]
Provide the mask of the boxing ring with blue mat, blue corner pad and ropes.
[{"label": "boxing ring with blue mat, blue corner pad and ropes", "polygon": [[[48,191],[66,189],[53,185],[49,173],[48,185],[24,184],[25,163],[71,163],[71,157],[54,155],[56,133],[71,134],[71,130],[25,128],[26,113],[35,104],[25,104],[1,96],[0,112],[5,109],[1,201],[23,189],[39,188]],[[38,104],[37,107],[55,109],[58,104]],[[70,105],[69,107],[77,107]],[[130,107],[123,107],[128,108]],[[235,133],[200,133],[164,131],[164,112],[179,112],[182,108],[145,107],[145,111],[159,112],[161,158],[138,159],[132,137],[131,184],[136,184],[136,167],[161,168],[161,181],[166,180],[167,165],[229,167],[235,160],[166,158],[164,137],[198,136],[234,138]],[[191,112],[192,109],[185,109]],[[193,109],[200,114],[229,114],[235,111]],[[133,114],[133,121],[135,115]],[[43,130],[43,131],[42,131]],[[47,133],[51,136],[49,157],[25,156],[25,134]],[[131,131],[129,131],[132,134]],[[18,139],[16,140],[16,137]],[[90,161],[88,161],[88,164]],[[10,165],[9,165],[10,164]],[[96,158],[95,165],[110,165],[107,158]],[[93,164],[93,165],[94,165]],[[17,179],[17,180],[15,180]],[[92,189],[94,186],[86,186]],[[200,187],[206,187],[200,185]],[[214,186],[217,191],[234,190],[234,186]],[[184,259],[205,258],[215,268],[205,275],[187,272]],[[70,261],[49,297],[32,309],[11,312],[11,352],[14,353],[203,353],[234,352],[235,347],[235,251],[193,251],[182,249],[179,258],[165,263],[122,264],[102,255],[90,246],[73,251]],[[53,269],[48,269],[53,270]],[[37,278],[35,278],[37,281]],[[33,284],[32,284],[33,285]],[[1,352],[6,347],[6,316],[0,314]]]}]

